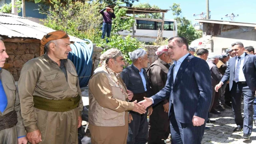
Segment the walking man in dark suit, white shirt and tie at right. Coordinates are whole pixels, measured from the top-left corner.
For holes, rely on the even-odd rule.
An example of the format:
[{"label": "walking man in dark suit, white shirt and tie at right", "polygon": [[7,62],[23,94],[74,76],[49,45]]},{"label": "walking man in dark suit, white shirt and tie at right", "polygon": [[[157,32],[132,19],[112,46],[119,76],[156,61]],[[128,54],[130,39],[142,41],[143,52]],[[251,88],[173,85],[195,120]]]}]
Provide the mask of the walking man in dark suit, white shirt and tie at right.
[{"label": "walking man in dark suit, white shirt and tie at right", "polygon": [[[252,134],[253,101],[256,91],[256,56],[246,54],[242,42],[232,44],[234,57],[229,60],[227,70],[215,90],[230,79],[232,108],[237,127],[234,132],[244,129],[243,139],[249,140]],[[244,118],[241,114],[241,95],[244,95]]]}]

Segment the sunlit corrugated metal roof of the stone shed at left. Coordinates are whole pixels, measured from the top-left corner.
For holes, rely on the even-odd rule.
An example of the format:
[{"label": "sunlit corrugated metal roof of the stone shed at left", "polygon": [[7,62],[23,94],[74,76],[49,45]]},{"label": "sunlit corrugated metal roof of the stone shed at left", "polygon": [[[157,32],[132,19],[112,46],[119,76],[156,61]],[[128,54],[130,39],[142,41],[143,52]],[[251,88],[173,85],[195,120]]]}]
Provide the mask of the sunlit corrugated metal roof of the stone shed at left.
[{"label": "sunlit corrugated metal roof of the stone shed at left", "polygon": [[[9,38],[35,38],[41,40],[44,35],[55,31],[44,25],[32,22],[26,18],[16,16],[15,14],[7,14],[0,12],[0,35]],[[69,35],[70,36],[70,35]],[[84,42],[79,38],[70,36],[72,42]]]}]

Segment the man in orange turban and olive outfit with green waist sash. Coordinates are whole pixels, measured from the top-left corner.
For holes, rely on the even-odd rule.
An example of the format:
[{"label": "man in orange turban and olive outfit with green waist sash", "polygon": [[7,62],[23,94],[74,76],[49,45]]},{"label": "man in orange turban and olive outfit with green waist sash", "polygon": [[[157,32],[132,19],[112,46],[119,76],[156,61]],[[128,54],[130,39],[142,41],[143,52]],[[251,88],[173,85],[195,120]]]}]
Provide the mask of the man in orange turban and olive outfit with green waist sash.
[{"label": "man in orange turban and olive outfit with green waist sash", "polygon": [[26,62],[18,82],[21,114],[32,144],[78,144],[82,125],[82,94],[68,34],[45,35],[46,53]]}]

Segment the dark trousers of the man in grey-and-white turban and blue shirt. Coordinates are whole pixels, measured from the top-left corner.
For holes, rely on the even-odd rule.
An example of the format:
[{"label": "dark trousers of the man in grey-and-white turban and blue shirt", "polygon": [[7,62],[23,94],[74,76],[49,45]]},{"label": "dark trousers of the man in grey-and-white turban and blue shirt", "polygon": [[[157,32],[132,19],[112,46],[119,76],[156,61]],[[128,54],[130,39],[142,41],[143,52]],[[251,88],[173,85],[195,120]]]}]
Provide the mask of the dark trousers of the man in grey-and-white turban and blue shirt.
[{"label": "dark trousers of the man in grey-and-white turban and blue shirt", "polygon": [[130,111],[132,122],[129,124],[127,144],[146,144],[148,142],[148,110],[146,114]]}]

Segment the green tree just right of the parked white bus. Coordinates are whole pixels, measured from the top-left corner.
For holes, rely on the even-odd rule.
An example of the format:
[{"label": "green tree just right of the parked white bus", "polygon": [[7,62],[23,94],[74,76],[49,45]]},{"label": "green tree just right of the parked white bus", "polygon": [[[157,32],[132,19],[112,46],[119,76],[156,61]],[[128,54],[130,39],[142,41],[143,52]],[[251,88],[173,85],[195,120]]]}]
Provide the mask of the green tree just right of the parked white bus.
[{"label": "green tree just right of the parked white bus", "polygon": [[170,8],[173,12],[172,14],[176,16],[174,20],[177,21],[178,36],[184,36],[188,40],[189,44],[193,40],[202,37],[202,32],[195,30],[190,20],[180,16],[180,14],[182,13],[180,4],[173,3]]}]

